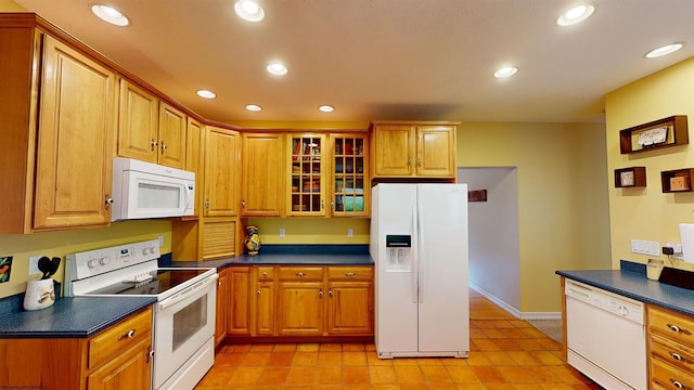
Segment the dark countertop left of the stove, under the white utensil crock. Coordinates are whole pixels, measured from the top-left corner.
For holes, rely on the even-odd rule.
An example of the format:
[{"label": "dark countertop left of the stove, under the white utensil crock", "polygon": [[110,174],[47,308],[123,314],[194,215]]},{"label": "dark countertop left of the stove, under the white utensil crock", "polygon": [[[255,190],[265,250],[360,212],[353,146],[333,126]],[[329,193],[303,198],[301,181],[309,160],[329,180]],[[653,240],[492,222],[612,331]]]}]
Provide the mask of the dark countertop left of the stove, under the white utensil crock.
[{"label": "dark countertop left of the stove, under the white utensil crock", "polygon": [[50,308],[0,316],[0,338],[87,338],[154,302],[154,297],[61,298]]}]

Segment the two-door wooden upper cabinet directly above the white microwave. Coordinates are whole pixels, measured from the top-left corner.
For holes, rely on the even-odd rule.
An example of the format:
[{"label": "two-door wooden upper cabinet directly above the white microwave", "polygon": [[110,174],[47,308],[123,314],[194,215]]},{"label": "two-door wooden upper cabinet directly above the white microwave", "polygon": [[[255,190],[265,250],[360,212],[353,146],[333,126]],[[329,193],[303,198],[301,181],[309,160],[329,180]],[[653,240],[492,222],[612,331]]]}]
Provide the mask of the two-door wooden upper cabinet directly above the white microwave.
[{"label": "two-door wooden upper cabinet directly above the white microwave", "polygon": [[184,113],[121,79],[118,118],[118,156],[185,169]]}]

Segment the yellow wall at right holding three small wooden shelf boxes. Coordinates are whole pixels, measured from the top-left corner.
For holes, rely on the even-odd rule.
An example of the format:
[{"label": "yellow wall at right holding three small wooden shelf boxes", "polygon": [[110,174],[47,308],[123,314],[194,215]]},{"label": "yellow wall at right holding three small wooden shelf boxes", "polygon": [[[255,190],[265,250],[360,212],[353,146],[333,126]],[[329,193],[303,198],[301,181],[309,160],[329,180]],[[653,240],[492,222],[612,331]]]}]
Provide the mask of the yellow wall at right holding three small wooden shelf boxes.
[{"label": "yellow wall at right holding three small wooden shelf boxes", "polygon": [[[694,57],[611,92],[605,112],[608,172],[646,167],[645,188],[615,188],[614,179],[609,180],[612,268],[618,269],[620,259],[645,263],[654,257],[632,253],[632,238],[659,242],[660,246],[679,243],[678,223],[694,222],[694,193],[664,194],[660,186],[660,171],[694,168],[692,145],[627,155],[619,152],[619,130],[672,115],[689,117],[690,143],[694,141]],[[677,265],[691,268],[681,261]]]}]

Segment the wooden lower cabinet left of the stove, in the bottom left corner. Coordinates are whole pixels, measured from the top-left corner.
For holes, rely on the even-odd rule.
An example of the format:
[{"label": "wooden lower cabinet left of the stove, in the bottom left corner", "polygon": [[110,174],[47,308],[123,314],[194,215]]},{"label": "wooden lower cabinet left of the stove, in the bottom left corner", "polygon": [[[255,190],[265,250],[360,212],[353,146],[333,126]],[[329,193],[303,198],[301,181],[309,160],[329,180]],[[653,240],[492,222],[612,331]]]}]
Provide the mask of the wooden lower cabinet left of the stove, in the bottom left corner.
[{"label": "wooden lower cabinet left of the stove, in the bottom left corner", "polygon": [[0,388],[151,389],[152,309],[91,338],[0,339]]}]

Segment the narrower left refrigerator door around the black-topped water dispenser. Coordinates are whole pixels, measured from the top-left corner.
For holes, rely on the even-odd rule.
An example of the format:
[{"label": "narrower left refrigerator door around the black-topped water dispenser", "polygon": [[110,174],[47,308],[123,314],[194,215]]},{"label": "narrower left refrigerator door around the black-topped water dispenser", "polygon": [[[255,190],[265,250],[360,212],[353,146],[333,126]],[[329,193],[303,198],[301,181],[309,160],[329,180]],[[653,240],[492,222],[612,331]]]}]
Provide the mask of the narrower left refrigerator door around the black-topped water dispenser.
[{"label": "narrower left refrigerator door around the black-topped water dispenser", "polygon": [[376,350],[378,353],[416,353],[416,265],[409,270],[389,269],[389,248],[385,244],[388,234],[411,235],[412,247],[407,250],[416,250],[413,225],[416,186],[378,184],[372,188],[372,218],[375,219],[371,230],[371,256],[376,266]]}]

